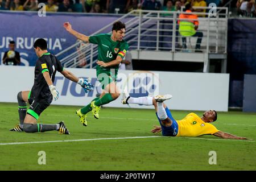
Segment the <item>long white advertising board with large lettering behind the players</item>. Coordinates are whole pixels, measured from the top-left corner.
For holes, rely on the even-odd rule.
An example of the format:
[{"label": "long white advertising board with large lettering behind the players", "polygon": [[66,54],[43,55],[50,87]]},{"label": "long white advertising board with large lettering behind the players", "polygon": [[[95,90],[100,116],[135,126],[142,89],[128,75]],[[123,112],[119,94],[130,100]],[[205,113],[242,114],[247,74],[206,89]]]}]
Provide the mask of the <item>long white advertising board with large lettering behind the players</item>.
[{"label": "long white advertising board with large lettering behind the players", "polygon": [[[84,106],[101,92],[96,78],[96,69],[68,68],[77,77],[90,77],[95,88],[85,94],[81,86],[67,80],[60,73],[56,74],[55,85],[60,93],[59,100],[53,105]],[[34,83],[34,67],[0,66],[0,102],[17,102],[16,95],[21,90],[31,90]],[[172,94],[166,101],[169,109],[175,110],[208,110],[228,111],[229,74],[221,73],[188,73],[188,72],[150,72],[119,71],[117,85],[120,92],[123,88],[130,96],[155,96]],[[110,102],[107,107],[128,107],[121,104],[121,96]],[[133,108],[152,106],[130,105]]]}]

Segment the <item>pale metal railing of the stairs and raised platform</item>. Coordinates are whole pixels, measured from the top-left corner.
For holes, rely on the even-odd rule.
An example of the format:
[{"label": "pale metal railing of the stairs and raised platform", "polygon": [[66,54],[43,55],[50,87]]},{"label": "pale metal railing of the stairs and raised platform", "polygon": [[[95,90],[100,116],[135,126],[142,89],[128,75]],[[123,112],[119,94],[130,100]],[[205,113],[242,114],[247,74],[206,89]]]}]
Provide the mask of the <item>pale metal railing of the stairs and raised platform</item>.
[{"label": "pale metal railing of the stairs and raised platform", "polygon": [[[197,7],[195,7],[197,8]],[[198,7],[201,8],[201,7]],[[205,7],[201,9],[207,9]],[[208,16],[207,13],[193,14],[206,16],[200,17],[199,29],[204,36],[201,43],[200,51],[203,53],[226,53],[227,49],[227,32],[228,32],[228,8],[217,7],[214,17]],[[187,41],[188,47],[182,47],[182,37],[179,34],[180,11],[149,11],[149,10],[133,10],[117,20],[128,20],[126,23],[125,40],[129,44],[130,49],[136,50],[152,50],[152,51],[171,51],[171,52],[195,52],[196,38],[189,37]],[[189,14],[183,12],[183,14]],[[117,21],[115,20],[115,21]],[[191,20],[191,19],[190,19]],[[101,28],[92,35],[110,33],[112,23]],[[193,46],[192,46],[193,45]],[[76,51],[69,53],[61,59],[64,67],[83,67],[94,68],[97,61],[97,45],[81,44],[77,42],[72,46],[64,49],[56,56],[61,56],[68,51],[77,47]],[[82,61],[81,61],[82,60]],[[83,62],[87,62],[86,65]]]}]

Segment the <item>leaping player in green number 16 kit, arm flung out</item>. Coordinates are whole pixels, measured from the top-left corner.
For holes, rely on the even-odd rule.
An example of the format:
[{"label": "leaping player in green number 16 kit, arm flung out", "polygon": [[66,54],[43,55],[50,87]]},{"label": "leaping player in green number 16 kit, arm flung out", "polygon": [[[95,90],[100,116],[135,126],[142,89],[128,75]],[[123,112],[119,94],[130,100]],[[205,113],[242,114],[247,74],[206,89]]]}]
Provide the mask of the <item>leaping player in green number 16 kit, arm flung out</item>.
[{"label": "leaping player in green number 16 kit, arm flung out", "polygon": [[115,81],[117,79],[118,65],[121,63],[125,53],[129,48],[127,42],[123,40],[125,36],[125,24],[115,22],[112,27],[112,34],[98,34],[86,36],[72,29],[69,22],[64,23],[64,28],[72,35],[87,43],[98,44],[98,61],[96,66],[97,79],[102,84],[100,97],[94,98],[90,104],[77,110],[80,121],[87,126],[86,114],[92,110],[94,118],[99,118],[100,106],[114,101],[120,95]]}]

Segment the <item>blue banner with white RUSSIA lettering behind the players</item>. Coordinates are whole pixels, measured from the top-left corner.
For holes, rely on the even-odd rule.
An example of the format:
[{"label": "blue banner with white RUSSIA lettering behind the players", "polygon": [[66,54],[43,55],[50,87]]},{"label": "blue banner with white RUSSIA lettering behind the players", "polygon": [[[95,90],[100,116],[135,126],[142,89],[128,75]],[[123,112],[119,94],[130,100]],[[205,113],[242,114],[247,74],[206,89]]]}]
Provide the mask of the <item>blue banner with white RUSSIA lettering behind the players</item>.
[{"label": "blue banner with white RUSSIA lettering behind the players", "polygon": [[[5,51],[9,50],[10,40],[15,41],[15,50],[20,52],[20,65],[34,66],[37,57],[33,44],[37,38],[46,39],[48,51],[53,54],[76,43],[77,39],[63,27],[64,22],[71,23],[82,34],[91,35],[120,17],[78,13],[47,13],[40,17],[37,12],[0,11],[0,63]],[[105,33],[111,31],[110,28]]]}]

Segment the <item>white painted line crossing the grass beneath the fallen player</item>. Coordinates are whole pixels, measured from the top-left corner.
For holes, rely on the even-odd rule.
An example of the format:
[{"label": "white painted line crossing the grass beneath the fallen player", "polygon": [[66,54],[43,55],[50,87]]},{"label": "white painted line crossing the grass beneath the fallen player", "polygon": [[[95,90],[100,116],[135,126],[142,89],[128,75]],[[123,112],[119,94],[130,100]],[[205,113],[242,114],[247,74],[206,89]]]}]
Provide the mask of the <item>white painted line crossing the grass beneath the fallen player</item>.
[{"label": "white painted line crossing the grass beneath the fallen player", "polygon": [[240,141],[240,142],[255,142],[253,140],[235,140],[235,139],[217,139],[217,138],[197,138],[197,137],[163,137],[163,136],[147,136],[147,137],[122,137],[122,138],[89,138],[89,139],[75,139],[75,140],[52,140],[41,142],[15,142],[15,143],[0,143],[0,145],[16,145],[16,144],[34,144],[34,143],[57,143],[57,142],[84,142],[93,140],[118,140],[118,139],[140,139],[140,138],[187,138],[187,139],[204,139],[204,140],[221,140],[221,141]]}]

